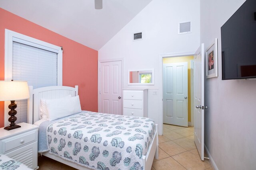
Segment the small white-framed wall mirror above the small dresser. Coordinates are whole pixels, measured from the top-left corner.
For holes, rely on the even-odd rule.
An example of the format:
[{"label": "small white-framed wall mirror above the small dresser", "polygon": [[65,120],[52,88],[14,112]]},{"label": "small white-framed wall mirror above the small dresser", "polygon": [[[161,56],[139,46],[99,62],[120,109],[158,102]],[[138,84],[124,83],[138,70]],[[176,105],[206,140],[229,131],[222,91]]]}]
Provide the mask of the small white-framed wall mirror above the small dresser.
[{"label": "small white-framed wall mirror above the small dresser", "polygon": [[128,85],[154,85],[154,69],[128,70]]}]

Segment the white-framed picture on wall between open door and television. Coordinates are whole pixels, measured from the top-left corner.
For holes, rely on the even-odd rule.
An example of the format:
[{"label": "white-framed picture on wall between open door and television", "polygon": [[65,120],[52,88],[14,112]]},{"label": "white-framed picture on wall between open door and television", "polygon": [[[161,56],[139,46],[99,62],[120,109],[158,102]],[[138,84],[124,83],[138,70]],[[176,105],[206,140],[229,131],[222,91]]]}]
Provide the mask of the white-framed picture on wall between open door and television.
[{"label": "white-framed picture on wall between open door and television", "polygon": [[206,49],[206,78],[218,77],[218,39]]}]

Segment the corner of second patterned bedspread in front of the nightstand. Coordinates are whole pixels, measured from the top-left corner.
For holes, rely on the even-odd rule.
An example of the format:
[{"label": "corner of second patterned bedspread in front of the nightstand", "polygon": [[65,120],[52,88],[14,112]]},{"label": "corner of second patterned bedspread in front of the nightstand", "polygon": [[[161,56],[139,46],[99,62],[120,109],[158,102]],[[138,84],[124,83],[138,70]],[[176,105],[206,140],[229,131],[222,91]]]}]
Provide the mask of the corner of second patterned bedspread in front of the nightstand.
[{"label": "corner of second patterned bedspread in front of the nightstand", "polygon": [[31,170],[26,165],[0,154],[0,170]]}]

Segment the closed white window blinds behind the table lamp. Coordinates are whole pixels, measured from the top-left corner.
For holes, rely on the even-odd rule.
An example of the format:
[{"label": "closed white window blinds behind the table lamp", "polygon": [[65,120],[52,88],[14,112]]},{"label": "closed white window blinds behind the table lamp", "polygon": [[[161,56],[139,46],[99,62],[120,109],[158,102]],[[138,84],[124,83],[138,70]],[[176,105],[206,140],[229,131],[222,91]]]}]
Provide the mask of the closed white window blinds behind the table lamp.
[{"label": "closed white window blinds behind the table lamp", "polygon": [[[12,79],[33,88],[57,86],[57,53],[13,41]],[[31,97],[31,96],[30,96]],[[27,100],[17,102],[17,121],[27,122]]]}]

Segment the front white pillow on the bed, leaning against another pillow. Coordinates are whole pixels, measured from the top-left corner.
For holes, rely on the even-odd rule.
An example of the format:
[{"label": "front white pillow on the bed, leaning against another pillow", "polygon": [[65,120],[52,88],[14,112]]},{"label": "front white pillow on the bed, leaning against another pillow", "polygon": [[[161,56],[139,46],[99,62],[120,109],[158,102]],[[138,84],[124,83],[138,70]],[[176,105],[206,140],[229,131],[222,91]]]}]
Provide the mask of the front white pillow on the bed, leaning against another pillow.
[{"label": "front white pillow on the bed, leaning against another pillow", "polygon": [[81,112],[79,96],[46,100],[48,120],[53,121]]}]

